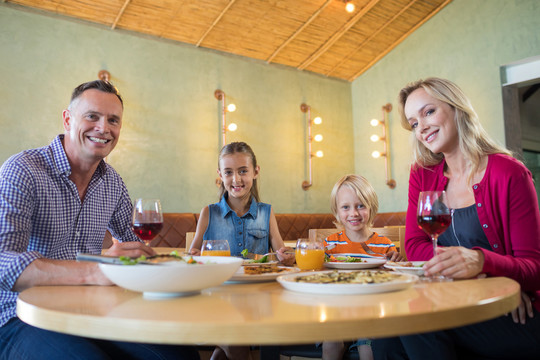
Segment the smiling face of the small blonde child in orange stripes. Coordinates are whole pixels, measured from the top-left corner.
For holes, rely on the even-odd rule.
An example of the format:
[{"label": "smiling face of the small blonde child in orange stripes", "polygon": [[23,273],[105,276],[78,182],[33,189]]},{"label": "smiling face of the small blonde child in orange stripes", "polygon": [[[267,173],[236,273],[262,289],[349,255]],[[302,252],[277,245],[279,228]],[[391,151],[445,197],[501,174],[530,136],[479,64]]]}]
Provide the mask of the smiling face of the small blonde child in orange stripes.
[{"label": "smiling face of the small blonde child in orange stripes", "polygon": [[336,194],[338,220],[346,232],[358,232],[366,228],[369,209],[362,204],[356,192],[349,186],[341,186]]}]

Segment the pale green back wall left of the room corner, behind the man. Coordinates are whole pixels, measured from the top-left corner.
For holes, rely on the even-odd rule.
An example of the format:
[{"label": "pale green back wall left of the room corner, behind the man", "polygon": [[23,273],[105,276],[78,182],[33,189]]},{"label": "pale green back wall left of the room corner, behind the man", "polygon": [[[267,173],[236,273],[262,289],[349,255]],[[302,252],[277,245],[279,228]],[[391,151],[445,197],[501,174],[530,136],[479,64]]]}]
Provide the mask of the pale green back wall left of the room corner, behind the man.
[{"label": "pale green back wall left of the room corner, behind the man", "polygon": [[[124,124],[108,157],[131,196],[159,197],[166,212],[217,201],[218,88],[237,111],[228,141],[249,143],[261,166],[262,200],[277,213],[329,212],[334,182],[354,171],[351,84],[295,69],[0,4],[0,163],[63,132],[72,89],[101,69],[121,91]],[[311,105],[324,142],[308,178]]]}]

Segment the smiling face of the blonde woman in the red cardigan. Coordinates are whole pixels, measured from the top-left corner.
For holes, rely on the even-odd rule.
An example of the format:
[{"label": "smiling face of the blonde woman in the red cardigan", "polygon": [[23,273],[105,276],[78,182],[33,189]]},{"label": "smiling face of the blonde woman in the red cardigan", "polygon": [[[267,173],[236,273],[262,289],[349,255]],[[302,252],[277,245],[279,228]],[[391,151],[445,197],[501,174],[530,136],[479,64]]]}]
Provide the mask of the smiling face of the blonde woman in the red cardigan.
[{"label": "smiling face of the blonde woman in the red cardigan", "polygon": [[449,153],[458,149],[455,110],[450,105],[418,88],[407,97],[404,112],[416,139],[431,152]]}]

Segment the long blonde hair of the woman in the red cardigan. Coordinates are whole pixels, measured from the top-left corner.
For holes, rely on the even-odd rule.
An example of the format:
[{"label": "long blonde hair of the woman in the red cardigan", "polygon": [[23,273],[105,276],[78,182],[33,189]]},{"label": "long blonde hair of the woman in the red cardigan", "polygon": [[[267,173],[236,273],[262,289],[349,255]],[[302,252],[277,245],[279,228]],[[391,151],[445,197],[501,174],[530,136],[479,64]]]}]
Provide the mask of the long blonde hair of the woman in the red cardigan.
[{"label": "long blonde hair of the woman in the red cardigan", "polygon": [[470,100],[465,93],[453,82],[441,78],[427,78],[407,84],[399,92],[398,110],[401,117],[401,126],[412,131],[414,164],[421,167],[435,165],[441,162],[443,154],[434,154],[416,138],[411,125],[405,115],[407,98],[415,90],[422,88],[431,97],[442,101],[454,110],[454,121],[459,138],[459,148],[471,162],[471,172],[467,178],[471,181],[473,174],[478,171],[481,160],[489,154],[506,154],[512,156],[506,148],[492,140],[480,124],[478,115],[474,111]]}]

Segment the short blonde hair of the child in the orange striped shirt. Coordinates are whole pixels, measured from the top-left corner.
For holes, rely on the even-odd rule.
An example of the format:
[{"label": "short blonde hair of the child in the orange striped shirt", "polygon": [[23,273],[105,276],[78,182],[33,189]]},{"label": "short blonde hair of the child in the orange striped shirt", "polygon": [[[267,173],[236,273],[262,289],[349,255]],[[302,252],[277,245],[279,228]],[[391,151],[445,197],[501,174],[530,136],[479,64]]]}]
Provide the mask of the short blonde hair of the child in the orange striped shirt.
[{"label": "short blonde hair of the child in the orange striped shirt", "polygon": [[343,227],[343,224],[339,221],[339,216],[337,213],[337,193],[343,186],[347,186],[352,189],[362,204],[369,210],[369,218],[366,223],[368,227],[373,226],[375,215],[377,215],[377,211],[379,211],[379,198],[377,197],[377,193],[369,181],[367,181],[365,177],[355,174],[345,175],[339,179],[332,189],[332,193],[330,195],[330,208],[332,209],[332,214],[334,214],[334,217],[336,218],[336,226]]}]

